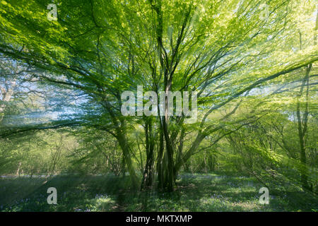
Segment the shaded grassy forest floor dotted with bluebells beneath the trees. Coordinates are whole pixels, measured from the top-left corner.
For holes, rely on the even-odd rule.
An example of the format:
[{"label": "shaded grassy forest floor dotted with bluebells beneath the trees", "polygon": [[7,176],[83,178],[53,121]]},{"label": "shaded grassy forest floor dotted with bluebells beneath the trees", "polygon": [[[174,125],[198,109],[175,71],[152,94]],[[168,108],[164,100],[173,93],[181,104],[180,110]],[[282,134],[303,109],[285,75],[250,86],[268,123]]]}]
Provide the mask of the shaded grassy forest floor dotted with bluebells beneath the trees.
[{"label": "shaded grassy forest floor dotted with bluebells beneath the trees", "polygon": [[[47,189],[57,189],[57,205]],[[252,177],[182,174],[172,193],[131,192],[129,177],[0,177],[0,211],[317,211],[318,199],[302,191],[271,195],[259,203],[262,187]]]}]

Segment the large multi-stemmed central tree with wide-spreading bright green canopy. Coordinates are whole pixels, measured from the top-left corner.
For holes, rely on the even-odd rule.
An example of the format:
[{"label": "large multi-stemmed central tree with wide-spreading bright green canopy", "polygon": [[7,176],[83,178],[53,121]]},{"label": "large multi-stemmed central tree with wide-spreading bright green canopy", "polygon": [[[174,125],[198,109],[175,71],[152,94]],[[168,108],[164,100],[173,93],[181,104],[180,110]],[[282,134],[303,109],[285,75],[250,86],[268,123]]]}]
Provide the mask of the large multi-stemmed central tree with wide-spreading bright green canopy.
[{"label": "large multi-stemmed central tree with wide-spreading bright green canopy", "polygon": [[[50,21],[46,17],[49,1],[1,1],[0,53],[45,72],[34,76],[39,83],[86,95],[80,114],[42,128],[81,125],[107,131],[117,139],[135,187],[138,180],[129,136],[134,125],[143,124],[143,183],[152,174],[157,145],[159,184],[173,191],[184,162],[206,136],[224,128],[223,121],[235,114],[250,90],[277,82],[318,59],[310,47],[296,52],[289,48],[300,5],[270,1],[264,18],[260,7],[264,2],[71,0],[61,1],[58,20]],[[306,18],[312,6],[314,1],[308,1]],[[312,33],[305,32],[305,36]],[[121,93],[135,91],[137,85],[157,94],[196,91],[199,120],[189,126],[186,115],[170,116],[167,111],[161,117],[144,117],[143,122],[140,117],[124,117]],[[232,110],[216,123],[211,113],[225,105]],[[159,130],[156,144],[155,130]],[[189,132],[192,136],[186,146],[184,133]]]}]

